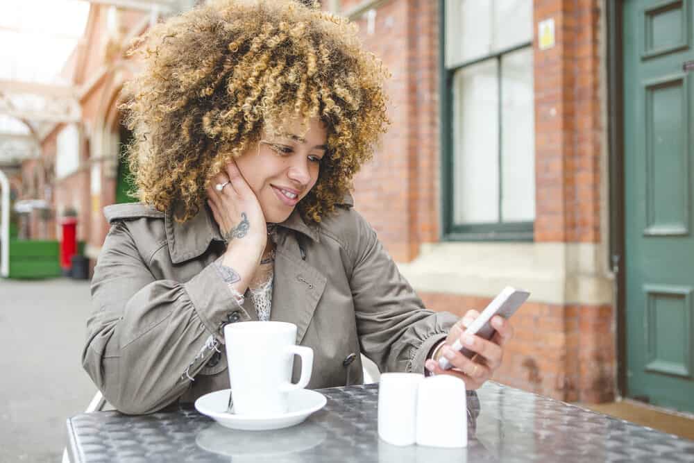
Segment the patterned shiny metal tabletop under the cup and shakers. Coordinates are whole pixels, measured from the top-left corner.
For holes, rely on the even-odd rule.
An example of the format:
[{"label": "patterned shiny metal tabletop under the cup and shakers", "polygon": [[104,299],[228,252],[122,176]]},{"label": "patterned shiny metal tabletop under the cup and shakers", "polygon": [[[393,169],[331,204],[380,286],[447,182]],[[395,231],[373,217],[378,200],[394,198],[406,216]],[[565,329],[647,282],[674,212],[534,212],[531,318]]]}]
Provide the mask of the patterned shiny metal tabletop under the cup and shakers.
[{"label": "patterned shiny metal tabletop under the cup and shakers", "polygon": [[192,407],[67,420],[73,462],[694,462],[694,441],[486,382],[468,447],[397,447],[378,439],[378,385],[322,389],[328,404],[275,431],[223,428]]}]

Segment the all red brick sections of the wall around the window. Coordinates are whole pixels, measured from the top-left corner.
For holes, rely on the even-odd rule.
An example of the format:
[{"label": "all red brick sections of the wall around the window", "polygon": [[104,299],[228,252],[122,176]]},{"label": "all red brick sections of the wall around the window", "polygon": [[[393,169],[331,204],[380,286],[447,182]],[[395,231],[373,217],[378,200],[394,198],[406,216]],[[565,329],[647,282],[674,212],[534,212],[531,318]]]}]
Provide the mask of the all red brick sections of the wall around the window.
[{"label": "all red brick sections of the wall around the window", "polygon": [[[361,2],[342,1],[347,11]],[[556,44],[534,40],[536,221],[534,241],[599,243],[600,1],[535,0],[537,24],[555,19]],[[393,258],[409,262],[439,235],[439,24],[437,1],[391,0],[373,33],[357,19],[366,47],[393,73],[393,125],[355,182],[357,209]],[[387,207],[384,207],[384,204]],[[573,269],[567,269],[570,273]],[[411,282],[416,287],[416,281]],[[421,294],[428,307],[461,315],[491,298]],[[610,304],[527,303],[495,379],[565,401],[613,398],[615,330]]]}]

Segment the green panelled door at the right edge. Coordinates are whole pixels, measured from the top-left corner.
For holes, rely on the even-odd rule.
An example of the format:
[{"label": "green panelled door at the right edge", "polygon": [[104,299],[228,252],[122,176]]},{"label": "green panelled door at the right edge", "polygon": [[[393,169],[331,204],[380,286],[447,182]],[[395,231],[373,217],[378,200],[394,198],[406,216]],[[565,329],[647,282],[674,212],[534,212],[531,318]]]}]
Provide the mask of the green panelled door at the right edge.
[{"label": "green panelled door at the right edge", "polygon": [[623,6],[627,396],[694,412],[694,10]]}]

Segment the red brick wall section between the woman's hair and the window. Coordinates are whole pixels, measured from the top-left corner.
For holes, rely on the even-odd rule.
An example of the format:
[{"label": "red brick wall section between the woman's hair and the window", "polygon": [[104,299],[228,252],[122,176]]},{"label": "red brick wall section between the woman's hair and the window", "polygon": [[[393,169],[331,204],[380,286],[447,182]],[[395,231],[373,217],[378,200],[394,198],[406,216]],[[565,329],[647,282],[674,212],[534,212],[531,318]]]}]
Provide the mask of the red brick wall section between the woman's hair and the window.
[{"label": "red brick wall section between the woman's hair and the window", "polygon": [[[342,10],[349,6],[343,2]],[[387,84],[392,125],[357,176],[355,199],[403,262],[439,234],[438,14],[435,1],[390,1],[378,8],[372,34],[366,16],[356,21],[364,44],[393,77]]]}]

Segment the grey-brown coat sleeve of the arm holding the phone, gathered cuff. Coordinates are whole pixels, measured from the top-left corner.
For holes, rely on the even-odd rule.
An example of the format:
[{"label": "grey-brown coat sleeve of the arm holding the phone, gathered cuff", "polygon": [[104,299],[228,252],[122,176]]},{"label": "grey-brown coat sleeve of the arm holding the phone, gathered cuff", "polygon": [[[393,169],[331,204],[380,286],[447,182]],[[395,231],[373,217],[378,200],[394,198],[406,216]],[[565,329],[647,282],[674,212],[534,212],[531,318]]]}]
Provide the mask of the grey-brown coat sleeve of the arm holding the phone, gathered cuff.
[{"label": "grey-brown coat sleeve of the arm holding the phone, gathered cuff", "polygon": [[371,226],[357,212],[351,239],[350,276],[362,352],[380,371],[424,372],[432,347],[457,321],[448,312],[426,310],[400,274]]}]

